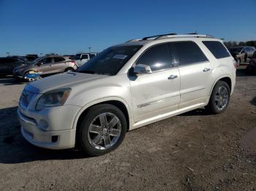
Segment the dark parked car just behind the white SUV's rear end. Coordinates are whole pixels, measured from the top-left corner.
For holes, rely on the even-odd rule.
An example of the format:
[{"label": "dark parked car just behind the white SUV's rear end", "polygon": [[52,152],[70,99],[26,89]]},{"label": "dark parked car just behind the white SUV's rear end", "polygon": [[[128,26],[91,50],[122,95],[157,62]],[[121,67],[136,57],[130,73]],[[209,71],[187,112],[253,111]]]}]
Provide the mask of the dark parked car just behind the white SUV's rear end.
[{"label": "dark parked car just behind the white SUV's rear end", "polygon": [[231,47],[230,53],[236,59],[238,66],[241,63],[246,63],[248,58],[252,58],[255,52],[255,47]]}]

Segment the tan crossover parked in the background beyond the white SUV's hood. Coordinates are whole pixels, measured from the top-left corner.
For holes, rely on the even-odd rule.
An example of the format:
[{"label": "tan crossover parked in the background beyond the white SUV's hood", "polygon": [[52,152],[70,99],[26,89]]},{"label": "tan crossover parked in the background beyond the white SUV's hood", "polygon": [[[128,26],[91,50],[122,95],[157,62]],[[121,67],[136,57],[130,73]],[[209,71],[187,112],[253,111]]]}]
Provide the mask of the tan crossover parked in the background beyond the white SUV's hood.
[{"label": "tan crossover parked in the background beyond the white SUV's hood", "polygon": [[28,65],[16,67],[13,69],[13,76],[23,78],[30,71],[39,71],[41,76],[45,76],[76,69],[78,69],[78,66],[75,61],[60,55],[46,55],[37,58],[33,62],[28,63]]}]

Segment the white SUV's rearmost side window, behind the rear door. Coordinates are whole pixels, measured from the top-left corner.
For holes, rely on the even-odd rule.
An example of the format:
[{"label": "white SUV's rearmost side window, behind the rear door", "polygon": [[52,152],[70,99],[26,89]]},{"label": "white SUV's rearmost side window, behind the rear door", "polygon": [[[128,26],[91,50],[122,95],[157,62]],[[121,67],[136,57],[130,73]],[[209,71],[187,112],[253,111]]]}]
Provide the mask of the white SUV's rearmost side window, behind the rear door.
[{"label": "white SUV's rearmost side window, behind the rear door", "polygon": [[227,52],[227,49],[221,42],[218,41],[203,41],[203,44],[206,45],[208,50],[214,55],[215,58],[226,58],[230,57],[230,54]]}]

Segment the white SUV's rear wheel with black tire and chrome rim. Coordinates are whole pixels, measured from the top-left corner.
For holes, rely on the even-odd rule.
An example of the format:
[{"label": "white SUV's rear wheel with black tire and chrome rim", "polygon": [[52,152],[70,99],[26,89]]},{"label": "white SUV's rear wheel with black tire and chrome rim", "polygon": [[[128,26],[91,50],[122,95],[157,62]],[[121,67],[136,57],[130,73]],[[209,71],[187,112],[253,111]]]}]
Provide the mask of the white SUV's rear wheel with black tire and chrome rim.
[{"label": "white SUV's rear wheel with black tire and chrome rim", "polygon": [[211,98],[206,109],[211,113],[219,114],[227,109],[229,103],[230,87],[227,85],[227,82],[218,81],[214,86],[214,90],[211,93]]}]

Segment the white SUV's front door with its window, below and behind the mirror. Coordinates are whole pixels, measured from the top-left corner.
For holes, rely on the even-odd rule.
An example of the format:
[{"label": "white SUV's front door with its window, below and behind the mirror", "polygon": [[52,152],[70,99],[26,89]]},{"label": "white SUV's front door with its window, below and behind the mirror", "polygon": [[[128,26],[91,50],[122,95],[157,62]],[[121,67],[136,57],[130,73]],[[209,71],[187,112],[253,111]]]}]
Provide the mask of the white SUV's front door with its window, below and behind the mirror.
[{"label": "white SUV's front door with its window, below and behind the mirror", "polygon": [[137,64],[151,67],[151,74],[131,78],[135,122],[151,121],[178,109],[180,74],[173,67],[168,44],[157,44],[143,53]]}]

